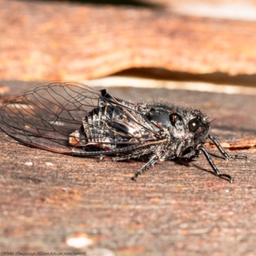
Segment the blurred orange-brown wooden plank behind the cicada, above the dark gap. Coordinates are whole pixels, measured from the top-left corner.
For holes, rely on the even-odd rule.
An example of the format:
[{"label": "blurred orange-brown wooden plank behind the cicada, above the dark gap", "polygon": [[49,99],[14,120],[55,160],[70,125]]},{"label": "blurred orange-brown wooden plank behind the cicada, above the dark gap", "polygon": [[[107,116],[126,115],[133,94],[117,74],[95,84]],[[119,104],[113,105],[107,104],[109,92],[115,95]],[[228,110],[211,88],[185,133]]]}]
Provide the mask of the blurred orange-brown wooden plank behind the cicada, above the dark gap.
[{"label": "blurred orange-brown wooden plank behind the cicada, above the dark gap", "polygon": [[81,81],[141,67],[256,74],[253,21],[131,6],[0,0],[0,35],[0,79]]}]

